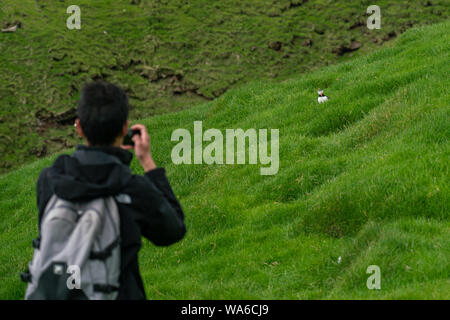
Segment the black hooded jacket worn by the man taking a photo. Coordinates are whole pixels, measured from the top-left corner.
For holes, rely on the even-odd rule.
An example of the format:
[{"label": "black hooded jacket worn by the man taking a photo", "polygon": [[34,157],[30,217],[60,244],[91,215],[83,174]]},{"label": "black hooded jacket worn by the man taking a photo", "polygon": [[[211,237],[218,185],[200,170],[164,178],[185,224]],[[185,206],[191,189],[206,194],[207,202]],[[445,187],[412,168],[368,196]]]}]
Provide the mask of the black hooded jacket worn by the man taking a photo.
[{"label": "black hooded jacket worn by the man taking a photo", "polygon": [[72,155],[62,155],[44,169],[37,183],[39,229],[45,206],[54,193],[69,201],[129,195],[125,198],[131,203],[117,203],[122,240],[118,299],[146,298],[138,266],[142,236],[157,246],[168,246],[186,233],[183,211],[165,170],[133,175],[129,168],[132,157],[131,152],[120,148],[78,146]]}]

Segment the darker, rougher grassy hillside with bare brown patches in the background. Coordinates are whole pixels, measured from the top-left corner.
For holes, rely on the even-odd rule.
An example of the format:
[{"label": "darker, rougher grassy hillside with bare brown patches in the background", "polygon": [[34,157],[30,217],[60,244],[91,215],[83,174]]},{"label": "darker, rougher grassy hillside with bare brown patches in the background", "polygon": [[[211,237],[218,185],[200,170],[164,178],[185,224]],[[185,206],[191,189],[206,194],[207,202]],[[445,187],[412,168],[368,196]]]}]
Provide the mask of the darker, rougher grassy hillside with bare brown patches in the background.
[{"label": "darker, rougher grassy hillside with bare brown patches in the background", "polygon": [[[81,30],[66,9],[81,8]],[[445,0],[1,0],[0,173],[72,146],[70,112],[91,79],[121,83],[135,119],[297,76],[448,19]],[[62,119],[53,114],[69,111]],[[20,147],[18,147],[20,146]]]}]

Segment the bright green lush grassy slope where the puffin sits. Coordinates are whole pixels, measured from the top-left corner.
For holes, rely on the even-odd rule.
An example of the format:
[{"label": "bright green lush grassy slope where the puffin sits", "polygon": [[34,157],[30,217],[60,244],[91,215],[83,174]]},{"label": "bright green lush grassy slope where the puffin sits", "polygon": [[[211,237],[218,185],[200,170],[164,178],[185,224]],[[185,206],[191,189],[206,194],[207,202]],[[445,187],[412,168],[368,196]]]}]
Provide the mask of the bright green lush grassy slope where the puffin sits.
[{"label": "bright green lush grassy slope where the puffin sits", "polygon": [[[169,248],[145,242],[149,297],[449,299],[449,31],[413,29],[351,62],[142,120],[189,228]],[[317,87],[332,100],[317,104]],[[171,132],[194,120],[279,128],[279,173],[171,164]],[[52,160],[0,176],[1,298],[23,296],[35,181]],[[380,291],[366,288],[369,265],[381,268]]]}]

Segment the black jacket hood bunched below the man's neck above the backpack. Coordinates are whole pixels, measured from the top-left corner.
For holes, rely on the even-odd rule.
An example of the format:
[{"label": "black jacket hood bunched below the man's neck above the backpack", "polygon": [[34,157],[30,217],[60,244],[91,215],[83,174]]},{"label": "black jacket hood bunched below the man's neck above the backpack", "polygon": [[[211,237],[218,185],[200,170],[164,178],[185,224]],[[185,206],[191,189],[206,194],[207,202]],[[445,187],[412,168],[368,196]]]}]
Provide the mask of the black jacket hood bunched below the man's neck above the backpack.
[{"label": "black jacket hood bunched below the man's neck above the backpack", "polygon": [[62,155],[49,170],[53,192],[77,201],[117,195],[132,178],[133,154],[116,147],[77,146],[72,155]]}]

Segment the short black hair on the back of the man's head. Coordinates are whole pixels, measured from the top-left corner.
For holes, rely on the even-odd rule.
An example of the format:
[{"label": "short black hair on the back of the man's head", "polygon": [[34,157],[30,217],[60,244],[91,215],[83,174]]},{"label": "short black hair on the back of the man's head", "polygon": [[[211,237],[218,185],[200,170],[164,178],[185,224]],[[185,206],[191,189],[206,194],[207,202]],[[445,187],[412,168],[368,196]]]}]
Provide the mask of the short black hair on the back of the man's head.
[{"label": "short black hair on the back of the man's head", "polygon": [[77,112],[89,143],[93,146],[113,144],[127,121],[128,108],[128,97],[119,87],[102,81],[86,84]]}]

